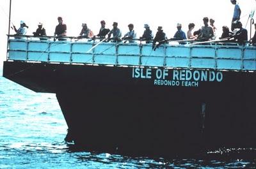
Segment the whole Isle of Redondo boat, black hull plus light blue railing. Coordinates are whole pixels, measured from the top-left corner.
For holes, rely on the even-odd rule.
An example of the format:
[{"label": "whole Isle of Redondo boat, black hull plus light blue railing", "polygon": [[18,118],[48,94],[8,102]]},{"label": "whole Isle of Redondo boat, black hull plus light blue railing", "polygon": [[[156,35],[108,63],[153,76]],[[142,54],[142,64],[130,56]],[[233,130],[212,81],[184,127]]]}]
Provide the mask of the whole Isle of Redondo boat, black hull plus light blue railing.
[{"label": "whole Isle of Redondo boat, black hull plus light blue railing", "polygon": [[55,93],[68,142],[134,156],[255,147],[256,47],[8,37],[3,77]]}]

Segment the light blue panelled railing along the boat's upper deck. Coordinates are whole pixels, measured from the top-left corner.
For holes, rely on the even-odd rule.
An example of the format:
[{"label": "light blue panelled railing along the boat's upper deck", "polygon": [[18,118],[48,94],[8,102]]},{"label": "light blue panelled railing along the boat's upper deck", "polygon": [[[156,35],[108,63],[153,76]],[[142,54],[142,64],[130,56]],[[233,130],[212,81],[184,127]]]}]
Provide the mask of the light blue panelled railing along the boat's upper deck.
[{"label": "light blue panelled railing along the boat's upper deck", "polygon": [[[202,68],[212,70],[256,70],[256,47],[237,43],[193,45],[170,43],[156,51],[152,44],[103,42],[99,39],[53,41],[52,36],[39,40],[33,36],[9,38],[8,61],[105,64],[115,66],[150,66],[164,68]],[[88,52],[90,50],[90,52]]]}]

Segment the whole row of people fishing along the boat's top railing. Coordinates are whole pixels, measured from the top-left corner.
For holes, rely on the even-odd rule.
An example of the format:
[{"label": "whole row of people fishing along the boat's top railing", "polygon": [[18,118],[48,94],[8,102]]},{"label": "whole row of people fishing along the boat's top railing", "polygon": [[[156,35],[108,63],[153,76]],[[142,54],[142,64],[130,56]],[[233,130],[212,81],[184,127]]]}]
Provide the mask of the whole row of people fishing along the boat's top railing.
[{"label": "whole row of people fishing along the boat's top railing", "polygon": [[[241,16],[241,9],[239,5],[236,3],[236,0],[230,0],[232,4],[235,5],[234,15],[232,18],[231,31],[227,26],[222,27],[223,33],[221,34],[220,40],[227,40],[239,43],[239,45],[243,45],[245,41],[248,41],[248,33],[247,30],[243,28],[242,23],[239,21]],[[195,28],[195,24],[190,23],[188,25],[188,32],[184,33],[182,31],[182,24],[177,24],[177,32],[174,34],[173,38],[168,39],[166,34],[163,31],[163,27],[157,27],[156,36],[153,35],[152,30],[148,24],[144,24],[145,31],[140,36],[141,41],[145,41],[146,43],[152,43],[152,48],[154,50],[159,47],[159,45],[163,43],[168,43],[169,41],[189,41],[189,40],[197,40],[197,41],[212,41],[216,40],[216,27],[214,26],[214,19],[210,19],[208,17],[203,18],[204,26],[198,31],[193,32]],[[209,24],[210,21],[210,24]],[[24,35],[27,33],[28,26],[26,26],[24,21],[20,21],[20,28],[14,30],[17,35]],[[86,23],[82,24],[81,33],[77,36],[77,39],[81,38],[100,38],[100,40],[104,41],[113,41],[120,42],[124,41],[124,43],[134,43],[134,39],[137,38],[136,32],[134,31],[134,25],[128,25],[129,31],[122,36],[121,30],[118,28],[118,23],[113,22],[113,29],[106,28],[106,22],[104,20],[100,21],[100,30],[97,35],[93,34],[93,31],[88,28]],[[255,24],[256,30],[256,24]],[[34,36],[40,37],[40,40],[44,40],[43,36],[46,36],[45,28],[42,23],[38,24],[38,29],[33,33]],[[54,32],[54,41],[55,40],[66,40],[65,36],[67,36],[67,25],[63,23],[63,18],[58,17],[58,25],[56,26]],[[250,40],[252,45],[256,45],[256,31],[253,38]]]}]

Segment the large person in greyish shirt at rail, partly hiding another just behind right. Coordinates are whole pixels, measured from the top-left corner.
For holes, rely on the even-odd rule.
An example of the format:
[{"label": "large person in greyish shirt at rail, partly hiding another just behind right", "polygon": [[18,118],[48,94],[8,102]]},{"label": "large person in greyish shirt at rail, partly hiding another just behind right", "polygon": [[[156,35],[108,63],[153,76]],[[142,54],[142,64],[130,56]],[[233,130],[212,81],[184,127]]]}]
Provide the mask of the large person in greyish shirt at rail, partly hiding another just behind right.
[{"label": "large person in greyish shirt at rail, partly hiding another just behind right", "polygon": [[213,31],[213,28],[208,25],[209,18],[204,17],[203,20],[204,20],[204,26],[202,26],[200,34],[198,35],[196,40],[200,40],[200,41],[212,40],[212,37],[214,36],[214,31]]}]

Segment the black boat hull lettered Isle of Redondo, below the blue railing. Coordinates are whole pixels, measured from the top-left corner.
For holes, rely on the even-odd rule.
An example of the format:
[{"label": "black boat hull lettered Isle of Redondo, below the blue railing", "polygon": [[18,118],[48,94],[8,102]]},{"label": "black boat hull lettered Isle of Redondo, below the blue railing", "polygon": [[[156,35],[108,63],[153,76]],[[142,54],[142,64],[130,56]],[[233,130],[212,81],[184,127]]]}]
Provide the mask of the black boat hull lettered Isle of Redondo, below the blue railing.
[{"label": "black boat hull lettered Isle of Redondo, below the blue railing", "polygon": [[[157,68],[134,69],[4,62],[3,75],[56,93],[70,137],[86,149],[170,156],[256,147],[256,73],[221,71],[211,80],[205,70],[206,80],[185,73],[176,76],[179,85],[168,85],[163,70],[157,78]],[[174,71],[168,70],[172,78]],[[186,78],[194,86],[185,86]]]}]

